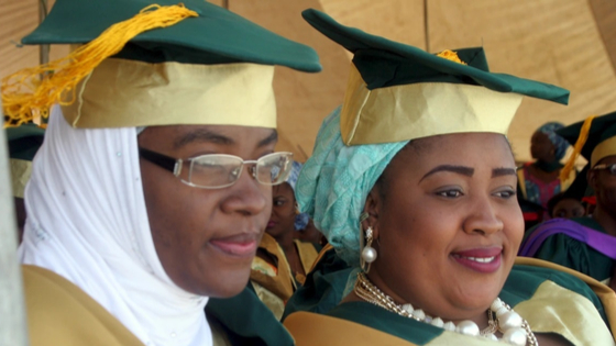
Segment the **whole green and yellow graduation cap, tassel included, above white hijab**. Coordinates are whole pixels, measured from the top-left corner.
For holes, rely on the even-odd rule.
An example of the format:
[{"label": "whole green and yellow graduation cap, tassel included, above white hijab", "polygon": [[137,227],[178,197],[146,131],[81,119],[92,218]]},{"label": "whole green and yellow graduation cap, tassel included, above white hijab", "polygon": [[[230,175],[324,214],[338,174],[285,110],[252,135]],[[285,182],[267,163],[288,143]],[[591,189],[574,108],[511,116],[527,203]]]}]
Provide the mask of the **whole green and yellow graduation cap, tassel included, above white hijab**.
[{"label": "whole green and yellow graduation cap, tassel included, above white hijab", "polygon": [[12,125],[59,103],[76,127],[275,127],[273,66],[321,69],[312,48],[204,0],[57,0],[22,43],[84,45],[2,80]]}]

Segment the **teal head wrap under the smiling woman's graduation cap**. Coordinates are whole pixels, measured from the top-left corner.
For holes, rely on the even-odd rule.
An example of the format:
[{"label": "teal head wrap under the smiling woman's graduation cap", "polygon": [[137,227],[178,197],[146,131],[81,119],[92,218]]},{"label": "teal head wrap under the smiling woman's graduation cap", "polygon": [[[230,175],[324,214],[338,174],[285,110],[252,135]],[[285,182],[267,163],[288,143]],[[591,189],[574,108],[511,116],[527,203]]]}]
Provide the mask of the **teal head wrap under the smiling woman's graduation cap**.
[{"label": "teal head wrap under the smiling woman's graduation cap", "polygon": [[312,217],[315,226],[351,266],[360,265],[360,214],[367,193],[407,143],[344,145],[340,108],[319,129],[295,194],[300,210]]}]

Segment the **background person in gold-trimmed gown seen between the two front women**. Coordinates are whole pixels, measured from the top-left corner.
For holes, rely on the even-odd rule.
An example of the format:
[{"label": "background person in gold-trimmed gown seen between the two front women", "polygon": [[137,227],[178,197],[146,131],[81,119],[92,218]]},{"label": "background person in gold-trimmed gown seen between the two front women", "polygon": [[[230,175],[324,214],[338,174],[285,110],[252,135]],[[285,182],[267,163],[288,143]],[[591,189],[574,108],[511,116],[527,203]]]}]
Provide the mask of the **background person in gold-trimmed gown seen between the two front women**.
[{"label": "background person in gold-trimmed gown seen between the two front women", "polygon": [[285,182],[273,188],[272,214],[251,271],[257,295],[278,319],[318,256],[314,244],[294,238],[298,221],[294,189],[300,169],[301,164],[294,161]]}]

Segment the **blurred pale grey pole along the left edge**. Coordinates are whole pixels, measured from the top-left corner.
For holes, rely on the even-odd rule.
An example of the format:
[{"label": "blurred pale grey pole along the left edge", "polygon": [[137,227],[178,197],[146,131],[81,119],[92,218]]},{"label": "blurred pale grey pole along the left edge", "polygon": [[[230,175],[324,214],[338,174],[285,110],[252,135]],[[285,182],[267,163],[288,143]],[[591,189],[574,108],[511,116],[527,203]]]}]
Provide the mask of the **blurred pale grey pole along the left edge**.
[{"label": "blurred pale grey pole along the left edge", "polygon": [[[0,115],[2,101],[0,100]],[[26,346],[23,282],[16,257],[16,222],[6,131],[0,131],[0,345]]]}]

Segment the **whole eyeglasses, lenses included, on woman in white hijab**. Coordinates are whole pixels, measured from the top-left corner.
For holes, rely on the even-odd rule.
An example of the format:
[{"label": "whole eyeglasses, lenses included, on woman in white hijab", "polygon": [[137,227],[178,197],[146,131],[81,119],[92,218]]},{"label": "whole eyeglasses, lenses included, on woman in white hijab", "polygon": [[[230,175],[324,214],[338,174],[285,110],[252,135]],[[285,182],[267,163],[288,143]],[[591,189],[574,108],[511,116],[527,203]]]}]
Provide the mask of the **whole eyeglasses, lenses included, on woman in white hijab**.
[{"label": "whole eyeglasses, lenses included, on woman in white hijab", "polygon": [[[187,159],[169,157],[146,148],[139,148],[139,156],[178,177],[182,182],[201,189],[222,189],[240,179],[244,165],[249,172],[263,185],[284,182],[293,167],[293,153],[273,153],[256,160],[226,154],[201,155]],[[188,169],[183,169],[189,165]]]}]

